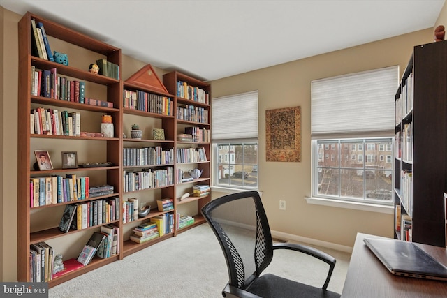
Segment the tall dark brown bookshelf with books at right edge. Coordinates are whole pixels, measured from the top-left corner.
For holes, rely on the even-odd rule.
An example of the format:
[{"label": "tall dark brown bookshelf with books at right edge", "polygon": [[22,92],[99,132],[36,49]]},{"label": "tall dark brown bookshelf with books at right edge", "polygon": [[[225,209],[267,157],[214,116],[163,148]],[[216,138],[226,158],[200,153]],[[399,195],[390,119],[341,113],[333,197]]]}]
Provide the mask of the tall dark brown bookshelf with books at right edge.
[{"label": "tall dark brown bookshelf with books at right edge", "polygon": [[395,237],[445,247],[447,41],[414,47],[395,98]]}]

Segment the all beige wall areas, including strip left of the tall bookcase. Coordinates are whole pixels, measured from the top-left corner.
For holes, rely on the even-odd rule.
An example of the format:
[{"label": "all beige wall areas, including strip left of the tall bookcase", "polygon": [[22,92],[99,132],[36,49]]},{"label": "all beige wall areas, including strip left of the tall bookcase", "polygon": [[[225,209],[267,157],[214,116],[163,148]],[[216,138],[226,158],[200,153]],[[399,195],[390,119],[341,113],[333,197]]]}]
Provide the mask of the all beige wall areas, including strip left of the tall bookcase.
[{"label": "all beige wall areas, including strip left of the tall bookcase", "polygon": [[[17,22],[20,15],[0,7],[0,253],[1,281],[17,280]],[[443,8],[437,24],[447,22]],[[393,217],[307,204],[310,195],[310,81],[384,66],[406,66],[413,45],[432,42],[432,29],[323,54],[212,82],[214,97],[259,91],[259,185],[272,230],[342,246],[352,246],[356,232],[392,235]],[[150,61],[147,61],[150,63]],[[123,56],[125,80],[145,63]],[[163,70],[157,70],[159,76]],[[3,88],[6,87],[6,88]],[[302,162],[265,162],[265,110],[300,105]],[[7,126],[5,125],[7,124]],[[3,129],[8,127],[8,129]],[[279,210],[286,200],[287,210]]]}]

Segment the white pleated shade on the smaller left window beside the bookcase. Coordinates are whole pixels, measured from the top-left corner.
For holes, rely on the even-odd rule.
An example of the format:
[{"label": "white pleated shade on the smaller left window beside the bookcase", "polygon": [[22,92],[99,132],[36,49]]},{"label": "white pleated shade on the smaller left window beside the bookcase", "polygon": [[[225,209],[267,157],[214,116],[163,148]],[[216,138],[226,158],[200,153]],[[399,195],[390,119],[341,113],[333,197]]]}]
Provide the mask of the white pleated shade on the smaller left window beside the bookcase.
[{"label": "white pleated shade on the smaller left window beside the bookcase", "polygon": [[212,99],[212,140],[258,137],[258,91]]}]

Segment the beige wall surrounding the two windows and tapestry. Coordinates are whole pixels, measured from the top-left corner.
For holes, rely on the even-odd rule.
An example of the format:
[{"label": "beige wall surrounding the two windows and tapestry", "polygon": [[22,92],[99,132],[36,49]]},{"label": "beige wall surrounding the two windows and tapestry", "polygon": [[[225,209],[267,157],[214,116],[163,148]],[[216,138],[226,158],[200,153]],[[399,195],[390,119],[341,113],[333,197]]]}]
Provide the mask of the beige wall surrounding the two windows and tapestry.
[{"label": "beige wall surrounding the two windows and tapestry", "polygon": [[[444,12],[442,15],[447,14]],[[304,199],[311,195],[310,83],[394,65],[400,66],[402,75],[413,46],[432,41],[433,30],[426,29],[212,82],[214,98],[258,90],[259,189],[274,232],[350,247],[357,232],[393,237],[392,214],[308,204]],[[302,111],[302,162],[266,162],[265,110],[298,105]],[[223,194],[214,192],[214,197]],[[286,200],[286,211],[279,210],[279,200]]]}]

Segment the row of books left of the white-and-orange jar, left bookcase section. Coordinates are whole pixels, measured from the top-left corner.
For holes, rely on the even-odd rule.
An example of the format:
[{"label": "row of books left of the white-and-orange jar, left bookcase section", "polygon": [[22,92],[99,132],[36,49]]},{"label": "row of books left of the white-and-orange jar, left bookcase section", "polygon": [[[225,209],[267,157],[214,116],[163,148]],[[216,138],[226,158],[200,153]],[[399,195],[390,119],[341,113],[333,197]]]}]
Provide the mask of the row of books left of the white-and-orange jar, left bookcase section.
[{"label": "row of books left of the white-and-orange jar, left bookcase section", "polygon": [[38,107],[31,110],[31,134],[70,135],[80,137],[80,112],[59,111]]}]

